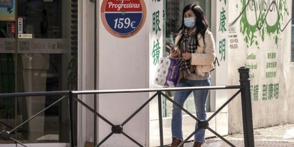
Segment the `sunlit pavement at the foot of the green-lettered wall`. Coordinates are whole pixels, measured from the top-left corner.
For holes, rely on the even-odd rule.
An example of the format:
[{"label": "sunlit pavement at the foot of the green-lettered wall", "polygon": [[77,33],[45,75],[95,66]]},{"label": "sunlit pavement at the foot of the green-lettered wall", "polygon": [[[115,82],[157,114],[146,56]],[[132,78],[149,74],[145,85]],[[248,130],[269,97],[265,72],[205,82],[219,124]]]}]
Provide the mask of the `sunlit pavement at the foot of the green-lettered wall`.
[{"label": "sunlit pavement at the foot of the green-lettered wall", "polygon": [[[244,147],[243,133],[224,137],[236,147]],[[294,147],[294,124],[254,129],[255,147]],[[184,147],[192,147],[193,143],[186,143]],[[206,140],[204,147],[230,147],[220,138]]]}]

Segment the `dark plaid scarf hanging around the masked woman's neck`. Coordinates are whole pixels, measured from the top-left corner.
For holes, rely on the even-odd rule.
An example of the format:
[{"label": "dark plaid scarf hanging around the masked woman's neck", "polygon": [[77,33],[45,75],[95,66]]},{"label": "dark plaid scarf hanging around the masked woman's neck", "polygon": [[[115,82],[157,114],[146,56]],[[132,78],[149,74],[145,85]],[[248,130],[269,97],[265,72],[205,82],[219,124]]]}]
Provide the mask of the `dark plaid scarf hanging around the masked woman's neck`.
[{"label": "dark plaid scarf hanging around the masked woman's neck", "polygon": [[[193,30],[190,34],[188,33],[188,29],[184,29],[184,37],[181,42],[181,57],[183,52],[189,52],[189,53],[195,53],[197,50],[197,45],[196,45],[196,39],[197,37],[195,36],[196,29]],[[187,71],[188,74],[191,74],[192,72],[196,73],[196,68],[194,67],[193,71],[190,71],[190,66],[191,66],[191,59],[190,60],[184,60],[181,63],[181,68],[180,71]]]}]

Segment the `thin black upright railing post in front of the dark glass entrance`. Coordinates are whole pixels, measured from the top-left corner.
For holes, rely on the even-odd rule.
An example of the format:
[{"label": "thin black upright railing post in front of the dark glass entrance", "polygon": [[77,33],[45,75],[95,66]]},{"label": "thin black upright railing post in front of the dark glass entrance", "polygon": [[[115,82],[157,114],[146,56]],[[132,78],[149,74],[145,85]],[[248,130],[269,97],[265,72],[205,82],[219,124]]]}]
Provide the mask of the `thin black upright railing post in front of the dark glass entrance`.
[{"label": "thin black upright railing post in front of the dark glass entrance", "polygon": [[74,147],[74,135],[73,135],[73,93],[69,92],[69,105],[70,105],[70,147]]}]

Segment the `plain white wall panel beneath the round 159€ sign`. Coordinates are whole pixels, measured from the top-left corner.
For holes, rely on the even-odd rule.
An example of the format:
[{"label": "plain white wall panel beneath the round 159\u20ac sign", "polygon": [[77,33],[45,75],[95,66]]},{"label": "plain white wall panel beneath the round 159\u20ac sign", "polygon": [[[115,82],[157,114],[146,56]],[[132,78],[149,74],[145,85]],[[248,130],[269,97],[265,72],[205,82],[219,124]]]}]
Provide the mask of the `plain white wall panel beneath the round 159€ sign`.
[{"label": "plain white wall panel beneath the round 159\u20ac sign", "polygon": [[[103,0],[99,0],[99,9]],[[145,0],[147,11],[149,0]],[[99,14],[100,15],[100,14]],[[111,35],[98,19],[98,89],[133,89],[149,87],[149,15],[145,25],[134,36]],[[148,93],[103,94],[98,96],[98,113],[111,123],[121,124],[144,102]],[[148,146],[149,112],[143,108],[123,131],[143,146]],[[111,132],[111,126],[99,119],[98,141]],[[112,135],[102,147],[137,147],[122,134]]]}]

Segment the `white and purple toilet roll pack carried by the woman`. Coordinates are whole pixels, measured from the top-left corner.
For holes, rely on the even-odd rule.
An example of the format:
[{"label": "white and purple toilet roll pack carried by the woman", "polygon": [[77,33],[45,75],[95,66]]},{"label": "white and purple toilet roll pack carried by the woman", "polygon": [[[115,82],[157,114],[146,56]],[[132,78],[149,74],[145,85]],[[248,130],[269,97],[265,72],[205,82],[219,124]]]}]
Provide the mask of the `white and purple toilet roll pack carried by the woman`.
[{"label": "white and purple toilet roll pack carried by the woman", "polygon": [[156,69],[154,83],[175,87],[180,75],[181,61],[170,57],[161,57]]}]

